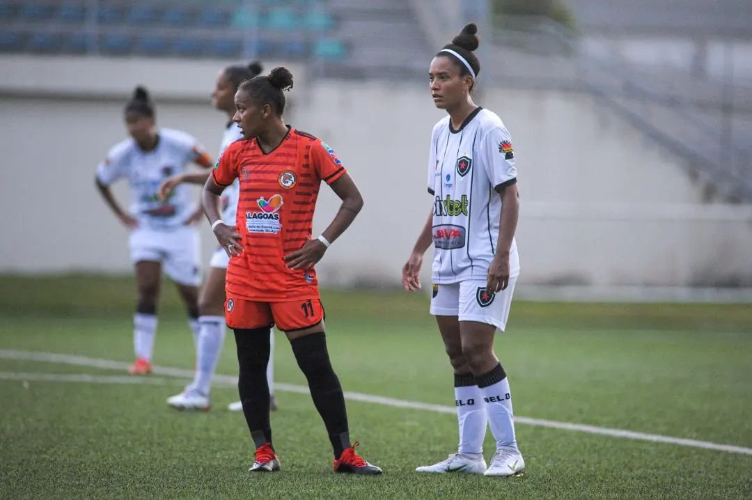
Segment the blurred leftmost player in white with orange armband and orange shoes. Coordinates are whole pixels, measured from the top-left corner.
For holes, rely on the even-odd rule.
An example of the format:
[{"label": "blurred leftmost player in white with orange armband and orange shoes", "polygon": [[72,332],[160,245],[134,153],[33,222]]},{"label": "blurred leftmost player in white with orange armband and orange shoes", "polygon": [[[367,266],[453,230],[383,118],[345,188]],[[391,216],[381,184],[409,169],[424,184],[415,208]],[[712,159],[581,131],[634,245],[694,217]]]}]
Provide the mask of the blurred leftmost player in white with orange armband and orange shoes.
[{"label": "blurred leftmost player in white with orange armband and orange shoes", "polygon": [[[187,186],[175,189],[165,199],[159,198],[157,191],[162,180],[185,171],[190,162],[203,168],[210,168],[212,162],[204,147],[185,132],[156,129],[154,115],[147,90],[137,87],[125,108],[131,138],[115,144],[96,171],[99,192],[130,230],[129,247],[138,287],[133,318],[136,360],[129,368],[134,375],[151,371],[162,265],[177,283],[196,342],[199,336],[199,232],[192,223],[199,220],[200,210]],[[111,183],[121,177],[130,184],[129,211],[120,207],[110,189]]]}]

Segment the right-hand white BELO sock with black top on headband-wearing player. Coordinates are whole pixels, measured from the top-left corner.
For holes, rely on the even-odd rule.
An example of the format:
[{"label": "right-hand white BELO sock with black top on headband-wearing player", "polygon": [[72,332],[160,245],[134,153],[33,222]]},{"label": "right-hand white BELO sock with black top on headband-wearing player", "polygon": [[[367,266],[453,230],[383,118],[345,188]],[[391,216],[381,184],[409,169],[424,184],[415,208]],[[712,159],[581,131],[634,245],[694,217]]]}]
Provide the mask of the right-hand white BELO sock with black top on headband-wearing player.
[{"label": "right-hand white BELO sock with black top on headband-wearing player", "polygon": [[496,365],[487,374],[477,377],[478,386],[484,396],[488,423],[491,433],[496,439],[496,449],[501,447],[517,448],[517,437],[514,435],[514,417],[512,414],[512,398],[509,392],[509,381],[502,365]]}]

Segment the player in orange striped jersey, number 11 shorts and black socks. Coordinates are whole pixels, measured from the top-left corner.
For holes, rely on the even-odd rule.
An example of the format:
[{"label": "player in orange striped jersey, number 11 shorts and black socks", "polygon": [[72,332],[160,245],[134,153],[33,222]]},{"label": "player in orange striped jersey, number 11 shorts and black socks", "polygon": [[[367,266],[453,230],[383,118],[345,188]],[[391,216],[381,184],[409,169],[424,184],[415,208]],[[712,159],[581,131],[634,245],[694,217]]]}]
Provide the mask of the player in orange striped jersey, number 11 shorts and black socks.
[{"label": "player in orange striped jersey, number 11 shorts and black socks", "polygon": [[[285,332],[334,451],[334,470],[381,474],[350,443],[347,411],[324,335],[316,264],[362,208],[358,188],[331,147],[285,125],[286,68],[241,84],[235,94],[244,140],[227,147],[204,186],[203,205],[217,241],[227,250],[225,316],[238,347],[240,392],[256,457],[250,471],[278,471],[271,441],[265,380],[271,326]],[[219,197],[240,179],[237,223],[220,219]],[[341,198],[334,220],[311,239],[321,181]]]}]

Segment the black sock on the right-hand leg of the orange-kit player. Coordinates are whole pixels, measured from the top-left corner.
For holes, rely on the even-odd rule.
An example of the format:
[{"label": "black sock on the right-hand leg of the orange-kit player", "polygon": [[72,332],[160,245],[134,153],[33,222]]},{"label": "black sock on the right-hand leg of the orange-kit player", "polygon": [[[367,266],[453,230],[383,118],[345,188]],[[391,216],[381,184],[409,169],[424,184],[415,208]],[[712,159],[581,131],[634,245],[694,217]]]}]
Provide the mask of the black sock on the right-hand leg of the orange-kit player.
[{"label": "black sock on the right-hand leg of the orange-kit player", "polygon": [[290,342],[298,366],[308,379],[311,398],[319,411],[332,442],[335,459],[349,448],[350,432],[347,429],[347,410],[339,379],[329,362],[326,336],[318,332]]}]

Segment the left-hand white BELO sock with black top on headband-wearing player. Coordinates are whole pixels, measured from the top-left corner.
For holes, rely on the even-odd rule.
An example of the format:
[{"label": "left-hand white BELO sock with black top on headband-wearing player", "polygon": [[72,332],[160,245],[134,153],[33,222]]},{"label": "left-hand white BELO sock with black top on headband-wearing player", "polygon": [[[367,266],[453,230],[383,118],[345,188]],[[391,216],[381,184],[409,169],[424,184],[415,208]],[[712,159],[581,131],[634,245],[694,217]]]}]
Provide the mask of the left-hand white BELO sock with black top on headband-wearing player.
[{"label": "left-hand white BELO sock with black top on headband-wearing player", "polygon": [[488,419],[483,394],[475,385],[472,374],[454,375],[454,404],[459,422],[457,450],[469,459],[480,460]]}]

